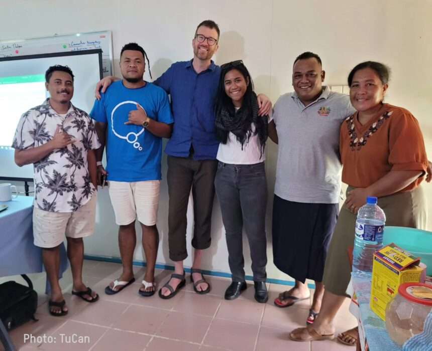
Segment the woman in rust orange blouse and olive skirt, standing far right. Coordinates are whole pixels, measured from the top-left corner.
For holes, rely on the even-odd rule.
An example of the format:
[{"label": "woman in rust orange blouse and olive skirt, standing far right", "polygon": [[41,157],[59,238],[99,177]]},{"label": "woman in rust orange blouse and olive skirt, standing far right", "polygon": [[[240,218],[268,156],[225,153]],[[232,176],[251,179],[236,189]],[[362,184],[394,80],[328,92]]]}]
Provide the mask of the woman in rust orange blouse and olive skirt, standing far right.
[{"label": "woman in rust orange blouse and olive skirt, standing far right", "polygon": [[[389,70],[378,62],[363,62],[348,76],[351,103],[357,112],[341,125],[342,181],[348,184],[324,269],[326,292],[313,325],[290,333],[294,340],[334,337],[334,318],[351,278],[347,250],[354,243],[357,211],[368,196],[378,197],[386,225],[424,229],[425,198],[419,184],[427,169],[423,136],[406,109],[384,103]],[[354,330],[353,330],[354,331]],[[354,337],[338,337],[353,344]]]}]

